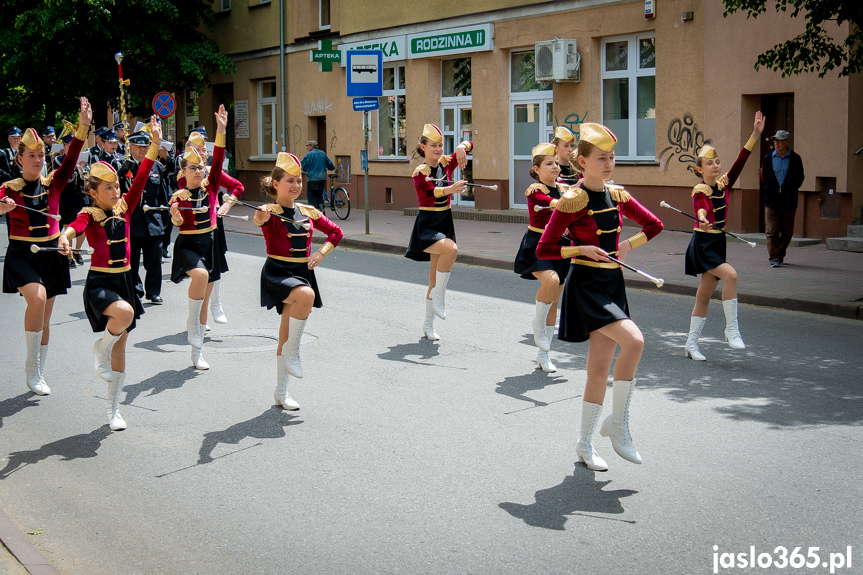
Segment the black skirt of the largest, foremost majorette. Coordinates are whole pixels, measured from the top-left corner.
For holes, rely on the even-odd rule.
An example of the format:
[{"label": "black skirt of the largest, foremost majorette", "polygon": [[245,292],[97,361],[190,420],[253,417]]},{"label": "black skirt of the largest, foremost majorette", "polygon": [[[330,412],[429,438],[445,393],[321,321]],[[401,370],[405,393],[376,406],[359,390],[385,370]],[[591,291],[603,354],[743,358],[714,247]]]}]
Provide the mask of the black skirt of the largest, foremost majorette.
[{"label": "black skirt of the largest, foremost majorette", "polygon": [[563,288],[558,339],[587,341],[590,332],[629,318],[622,270],[573,267]]}]

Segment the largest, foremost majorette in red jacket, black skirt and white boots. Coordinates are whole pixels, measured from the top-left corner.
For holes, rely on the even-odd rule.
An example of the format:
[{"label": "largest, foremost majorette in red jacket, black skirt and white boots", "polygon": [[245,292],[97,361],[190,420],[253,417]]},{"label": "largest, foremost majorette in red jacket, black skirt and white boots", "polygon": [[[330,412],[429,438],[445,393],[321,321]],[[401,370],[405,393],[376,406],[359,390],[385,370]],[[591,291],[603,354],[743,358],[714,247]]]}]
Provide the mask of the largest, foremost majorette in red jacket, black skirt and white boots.
[{"label": "largest, foremost majorette in red jacket, black skirt and white boots", "polygon": [[[662,222],[626,190],[605,183],[614,170],[616,142],[617,138],[605,126],[581,125],[576,163],[584,179],[578,187],[561,197],[536,249],[539,258],[572,258],[572,263],[578,266],[578,273],[569,274],[564,289],[558,338],[590,342],[581,434],[576,453],[579,461],[597,471],[608,469],[594,449],[593,433],[602,414],[608,370],[618,345],[620,353],[614,362],[612,414],[603,421],[600,434],[611,439],[618,455],[627,461],[641,463],[641,455],[629,434],[629,403],[644,338],[638,326],[629,319],[620,266],[606,256],[615,255],[623,260],[630,250],[662,231]],[[642,229],[621,242],[623,216],[640,224]],[[573,238],[575,245],[560,245],[564,233]]]}]

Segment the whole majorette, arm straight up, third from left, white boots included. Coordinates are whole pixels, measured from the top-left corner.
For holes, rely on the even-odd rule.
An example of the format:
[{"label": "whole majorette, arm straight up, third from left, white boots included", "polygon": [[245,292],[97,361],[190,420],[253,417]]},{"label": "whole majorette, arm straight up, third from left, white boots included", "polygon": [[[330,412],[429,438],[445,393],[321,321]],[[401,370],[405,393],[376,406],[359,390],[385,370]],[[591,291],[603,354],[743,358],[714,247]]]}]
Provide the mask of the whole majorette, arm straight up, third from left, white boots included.
[{"label": "whole majorette, arm straight up, third from left, white boots included", "polygon": [[213,282],[219,279],[222,271],[213,241],[222,158],[225,156],[225,126],[228,124],[228,112],[222,105],[216,113],[216,123],[216,146],[209,177],[204,159],[194,148],[187,148],[180,160],[185,186],[171,198],[171,221],[179,230],[177,241],[174,242],[171,281],[180,283],[186,276],[192,279],[186,330],[189,345],[192,346],[192,365],[196,369],[210,369],[203,357],[207,302],[213,291]]}]

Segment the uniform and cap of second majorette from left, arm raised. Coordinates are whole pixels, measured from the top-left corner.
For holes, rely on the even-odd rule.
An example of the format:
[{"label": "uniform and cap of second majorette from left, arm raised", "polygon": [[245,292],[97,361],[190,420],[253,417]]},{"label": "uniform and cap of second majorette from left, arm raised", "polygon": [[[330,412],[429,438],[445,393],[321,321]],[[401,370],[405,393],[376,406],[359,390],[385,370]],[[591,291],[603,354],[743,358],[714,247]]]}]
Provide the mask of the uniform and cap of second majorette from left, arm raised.
[{"label": "uniform and cap of second majorette from left, arm raised", "polygon": [[[122,299],[135,310],[135,317],[126,328],[127,332],[135,329],[136,320],[144,314],[144,306],[135,293],[135,279],[129,265],[129,237],[132,213],[141,200],[150,168],[158,155],[159,147],[151,144],[132,186],[113,209],[104,210],[94,202],[94,205],[81,210],[66,230],[70,240],[76,235],[85,234],[87,244],[93,248],[84,284],[84,311],[94,332],[105,331],[108,317],[103,312],[115,301]],[[105,182],[119,182],[114,167],[106,162],[91,165],[90,177]]]}]

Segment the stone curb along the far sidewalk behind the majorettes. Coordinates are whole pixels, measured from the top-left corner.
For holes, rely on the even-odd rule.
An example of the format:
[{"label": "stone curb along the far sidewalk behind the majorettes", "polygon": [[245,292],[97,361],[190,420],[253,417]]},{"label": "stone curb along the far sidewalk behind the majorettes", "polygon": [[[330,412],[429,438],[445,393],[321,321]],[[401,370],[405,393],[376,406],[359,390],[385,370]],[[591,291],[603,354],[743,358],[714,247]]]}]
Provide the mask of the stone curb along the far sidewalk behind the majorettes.
[{"label": "stone curb along the far sidewalk behind the majorettes", "polygon": [[[238,229],[229,229],[225,228],[225,231],[246,234],[252,236],[262,236],[263,234],[256,231],[246,231],[246,230],[238,230]],[[312,243],[314,244],[322,244],[324,242],[323,237],[313,237]],[[376,242],[376,241],[367,241],[367,240],[357,240],[353,238],[344,238],[339,244],[346,248],[352,248],[356,250],[364,250],[364,251],[372,251],[379,252],[385,254],[395,254],[401,255],[404,254],[407,249],[405,246],[400,246],[397,244],[388,244],[385,242]],[[512,262],[509,260],[501,260],[497,258],[491,258],[487,256],[475,256],[471,254],[463,254],[459,253],[458,262],[466,265],[479,266],[485,268],[494,268],[507,270],[512,269]],[[626,278],[626,285],[633,287],[639,290],[652,291],[656,293],[673,293],[678,295],[686,295],[695,297],[695,292],[697,290],[694,286],[689,286],[685,284],[677,284],[674,282],[666,281],[665,285],[662,286],[662,289],[657,288],[653,282],[641,278]],[[721,299],[720,292],[717,290],[712,296],[711,299],[719,300]],[[788,311],[801,311],[806,313],[814,313],[817,315],[827,315],[832,317],[841,317],[845,319],[856,319],[863,320],[863,304],[841,304],[841,303],[830,303],[830,302],[819,302],[798,298],[789,298],[789,297],[775,297],[775,296],[766,296],[762,294],[753,294],[753,293],[745,293],[740,292],[737,295],[737,300],[742,304],[748,305],[757,305],[759,307],[773,307],[777,309],[784,309]]]}]

